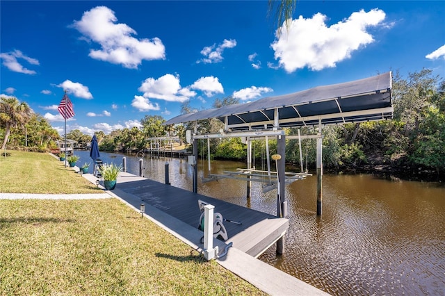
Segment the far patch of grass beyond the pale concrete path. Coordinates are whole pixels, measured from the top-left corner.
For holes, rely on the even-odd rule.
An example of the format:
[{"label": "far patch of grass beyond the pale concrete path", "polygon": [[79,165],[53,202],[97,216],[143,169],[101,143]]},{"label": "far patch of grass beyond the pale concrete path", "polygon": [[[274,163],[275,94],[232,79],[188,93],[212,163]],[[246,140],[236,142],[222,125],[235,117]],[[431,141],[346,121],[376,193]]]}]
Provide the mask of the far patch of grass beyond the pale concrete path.
[{"label": "far patch of grass beyond the pale concrete path", "polygon": [[49,154],[7,150],[0,157],[0,192],[103,193],[70,167]]}]

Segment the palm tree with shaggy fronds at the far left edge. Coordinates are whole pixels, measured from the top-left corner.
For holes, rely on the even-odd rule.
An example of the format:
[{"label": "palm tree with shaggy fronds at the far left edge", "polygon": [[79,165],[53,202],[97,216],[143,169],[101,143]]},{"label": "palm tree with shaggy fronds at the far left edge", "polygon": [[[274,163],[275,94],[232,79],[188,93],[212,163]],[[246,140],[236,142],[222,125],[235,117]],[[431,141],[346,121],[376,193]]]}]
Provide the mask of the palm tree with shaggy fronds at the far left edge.
[{"label": "palm tree with shaggy fronds at the far left edge", "polygon": [[5,138],[1,149],[5,149],[11,127],[24,125],[33,110],[25,102],[20,103],[15,97],[0,97],[0,126],[5,128]]}]

